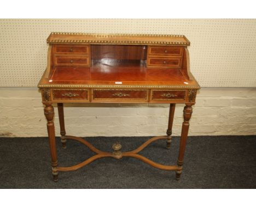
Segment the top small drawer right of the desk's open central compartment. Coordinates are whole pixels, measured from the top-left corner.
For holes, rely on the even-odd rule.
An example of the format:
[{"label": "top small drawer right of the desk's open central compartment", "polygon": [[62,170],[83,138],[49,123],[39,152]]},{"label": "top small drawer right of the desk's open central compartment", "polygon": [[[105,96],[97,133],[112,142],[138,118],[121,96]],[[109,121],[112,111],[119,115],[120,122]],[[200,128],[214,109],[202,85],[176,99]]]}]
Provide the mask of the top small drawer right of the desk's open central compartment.
[{"label": "top small drawer right of the desk's open central compartment", "polygon": [[148,46],[149,56],[182,56],[183,47]]}]

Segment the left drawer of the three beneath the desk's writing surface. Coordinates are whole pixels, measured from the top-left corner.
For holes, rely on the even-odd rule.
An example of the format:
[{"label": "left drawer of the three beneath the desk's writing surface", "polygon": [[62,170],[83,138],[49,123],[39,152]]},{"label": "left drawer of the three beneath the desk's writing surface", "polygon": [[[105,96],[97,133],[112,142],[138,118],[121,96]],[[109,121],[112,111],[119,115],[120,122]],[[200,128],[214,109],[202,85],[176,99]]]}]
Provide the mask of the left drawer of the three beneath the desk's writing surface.
[{"label": "left drawer of the three beneath the desk's writing surface", "polygon": [[53,89],[53,100],[88,100],[88,89]]}]

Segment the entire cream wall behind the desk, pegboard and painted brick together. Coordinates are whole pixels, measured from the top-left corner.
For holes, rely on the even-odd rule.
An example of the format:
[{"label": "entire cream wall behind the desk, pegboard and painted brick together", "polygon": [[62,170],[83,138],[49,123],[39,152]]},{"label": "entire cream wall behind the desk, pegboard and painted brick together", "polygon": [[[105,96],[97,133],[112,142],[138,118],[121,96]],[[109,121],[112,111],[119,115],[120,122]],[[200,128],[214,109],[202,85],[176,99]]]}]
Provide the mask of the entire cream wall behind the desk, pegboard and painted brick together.
[{"label": "entire cream wall behind the desk, pegboard and painted brick together", "polygon": [[[2,19],[0,136],[47,135],[36,85],[46,67],[50,32],[183,34],[191,42],[190,70],[203,87],[197,94],[190,135],[256,134],[256,88],[242,88],[256,86],[255,19]],[[68,134],[152,136],[166,132],[166,104],[76,106],[65,108]],[[181,132],[182,111],[178,105],[174,135]],[[59,135],[57,119],[55,124]]]}]

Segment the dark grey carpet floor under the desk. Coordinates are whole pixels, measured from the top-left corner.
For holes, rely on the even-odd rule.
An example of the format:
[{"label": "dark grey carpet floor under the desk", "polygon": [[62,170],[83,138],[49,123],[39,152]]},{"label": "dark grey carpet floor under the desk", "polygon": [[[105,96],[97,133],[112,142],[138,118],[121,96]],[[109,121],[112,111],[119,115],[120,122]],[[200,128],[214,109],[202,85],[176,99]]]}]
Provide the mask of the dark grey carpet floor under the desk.
[{"label": "dark grey carpet floor under the desk", "polygon": [[[88,137],[96,148],[112,151],[119,140],[123,151],[137,148],[150,137]],[[141,154],[161,164],[176,164],[179,137],[170,150],[165,140],[150,144]],[[181,180],[135,158],[101,158],[74,172],[51,176],[48,138],[0,138],[0,188],[256,188],[256,136],[189,137]],[[94,155],[86,146],[68,140],[61,148],[60,166],[72,166]]]}]

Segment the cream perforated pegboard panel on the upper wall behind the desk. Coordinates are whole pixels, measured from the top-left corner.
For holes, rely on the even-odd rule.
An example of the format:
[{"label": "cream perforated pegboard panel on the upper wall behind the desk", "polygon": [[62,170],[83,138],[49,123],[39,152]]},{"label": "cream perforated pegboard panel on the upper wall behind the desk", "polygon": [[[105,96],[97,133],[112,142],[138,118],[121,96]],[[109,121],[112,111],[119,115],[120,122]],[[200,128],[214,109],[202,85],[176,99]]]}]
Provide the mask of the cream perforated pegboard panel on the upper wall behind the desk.
[{"label": "cream perforated pegboard panel on the upper wall behind the desk", "polygon": [[256,19],[0,19],[0,87],[37,86],[51,32],[185,35],[201,87],[256,87]]}]

